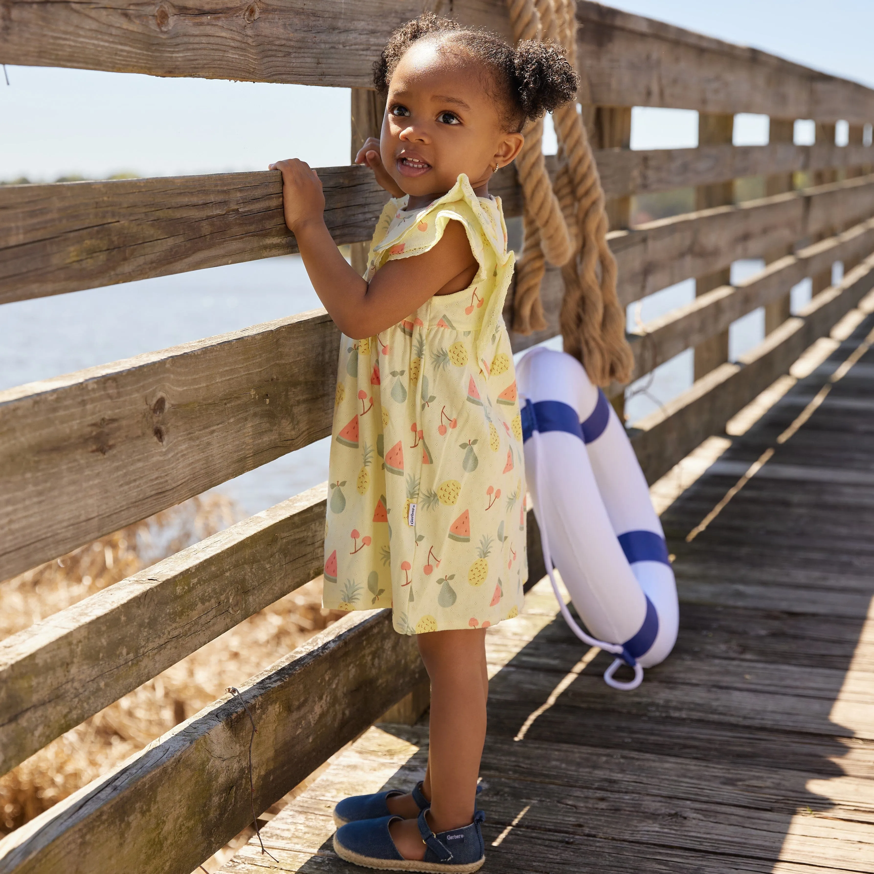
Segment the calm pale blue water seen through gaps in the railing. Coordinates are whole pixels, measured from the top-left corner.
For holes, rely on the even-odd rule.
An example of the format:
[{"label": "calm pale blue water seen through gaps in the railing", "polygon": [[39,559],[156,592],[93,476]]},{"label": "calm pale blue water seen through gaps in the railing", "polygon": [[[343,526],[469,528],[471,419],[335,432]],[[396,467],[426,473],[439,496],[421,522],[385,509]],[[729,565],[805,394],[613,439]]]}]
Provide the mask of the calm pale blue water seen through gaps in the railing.
[{"label": "calm pale blue water seen through gaps in the railing", "polygon": [[[760,268],[760,261],[738,261],[732,267],[732,281]],[[629,308],[629,327],[682,306],[694,296],[694,281],[651,295]],[[804,283],[795,288],[793,298],[797,309],[809,299],[809,283],[806,288]],[[6,304],[0,307],[0,389],[318,306],[296,255]],[[763,329],[761,311],[732,325],[732,359],[760,342]],[[689,350],[630,386],[629,419],[658,409],[691,382]],[[326,480],[328,451],[328,440],[320,440],[218,488],[246,513],[260,512]]]}]

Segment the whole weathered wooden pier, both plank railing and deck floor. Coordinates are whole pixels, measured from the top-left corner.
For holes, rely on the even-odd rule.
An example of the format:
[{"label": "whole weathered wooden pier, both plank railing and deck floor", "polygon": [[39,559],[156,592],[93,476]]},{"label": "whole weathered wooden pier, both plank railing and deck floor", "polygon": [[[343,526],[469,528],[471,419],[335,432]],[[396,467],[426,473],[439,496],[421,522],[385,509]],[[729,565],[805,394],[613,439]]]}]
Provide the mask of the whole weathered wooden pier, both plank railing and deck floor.
[{"label": "whole weathered wooden pier, both plank railing and deck floor", "polygon": [[[510,35],[499,0],[6,0],[0,62],[350,87],[354,151],[381,118],[371,63],[423,7]],[[697,282],[631,336],[635,377],[695,350],[694,385],[629,423],[681,631],[641,688],[609,689],[607,656],[538,582],[529,514],[526,610],[489,632],[482,870],[874,871],[874,91],[577,7],[621,300]],[[697,110],[698,147],[631,150],[634,106]],[[770,116],[770,142],[732,145],[737,113]],[[797,119],[815,121],[814,145],[794,143]],[[319,174],[359,262],[385,192],[364,168]],[[519,216],[515,171],[496,180]],[[632,225],[632,198],[690,187],[692,212]],[[278,173],[0,187],[0,303],[295,251]],[[766,266],[732,285],[748,258]],[[791,312],[805,279],[811,300]],[[561,295],[552,270],[551,328],[513,335],[516,350],[558,331]],[[729,361],[729,326],[759,308],[765,339]],[[0,392],[0,579],[329,434],[338,341],[309,312]],[[326,490],[0,641],[0,773],[315,579]],[[264,668],[3,838],[0,874],[198,869],[252,818],[244,702],[254,806],[291,800],[262,829],[274,858],[250,842],[225,870],[350,871],[330,849],[333,803],[424,768],[415,642],[385,612],[350,614]],[[374,727],[390,708],[413,725]]]}]

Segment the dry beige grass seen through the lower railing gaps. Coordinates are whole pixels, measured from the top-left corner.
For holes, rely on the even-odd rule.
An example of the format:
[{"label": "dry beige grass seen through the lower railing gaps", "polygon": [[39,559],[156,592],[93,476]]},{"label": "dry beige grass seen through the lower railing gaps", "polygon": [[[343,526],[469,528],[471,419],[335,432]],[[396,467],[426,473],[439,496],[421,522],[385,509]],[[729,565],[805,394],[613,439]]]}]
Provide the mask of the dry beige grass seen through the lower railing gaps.
[{"label": "dry beige grass seen through the lower railing gaps", "polygon": [[[193,498],[0,582],[0,639],[208,537],[238,515],[223,496]],[[0,835],[107,773],[343,615],[323,610],[321,600],[321,579],[302,586],[0,777]]]}]

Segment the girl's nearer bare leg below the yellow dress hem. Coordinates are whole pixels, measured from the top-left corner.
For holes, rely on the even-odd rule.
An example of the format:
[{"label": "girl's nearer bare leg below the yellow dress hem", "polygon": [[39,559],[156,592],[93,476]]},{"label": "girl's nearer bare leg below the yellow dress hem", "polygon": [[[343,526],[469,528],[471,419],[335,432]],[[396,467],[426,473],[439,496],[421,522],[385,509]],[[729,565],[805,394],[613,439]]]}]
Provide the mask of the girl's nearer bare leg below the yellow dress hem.
[{"label": "girl's nearer bare leg below the yellow dress hem", "polygon": [[[440,832],[469,825],[474,818],[476,780],[486,735],[485,631],[434,631],[419,635],[418,642],[431,678],[430,745],[423,790],[431,799],[428,823],[434,832]],[[401,796],[404,800],[407,797]],[[413,819],[393,822],[391,832],[402,856],[425,856]]]}]

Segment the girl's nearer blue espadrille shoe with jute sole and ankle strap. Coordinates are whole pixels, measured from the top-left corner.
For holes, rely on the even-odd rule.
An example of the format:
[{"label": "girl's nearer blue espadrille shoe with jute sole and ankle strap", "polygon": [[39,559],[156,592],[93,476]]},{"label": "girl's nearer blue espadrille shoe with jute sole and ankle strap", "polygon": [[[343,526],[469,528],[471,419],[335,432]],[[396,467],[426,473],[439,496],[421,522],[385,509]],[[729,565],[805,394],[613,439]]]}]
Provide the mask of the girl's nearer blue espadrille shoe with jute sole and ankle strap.
[{"label": "girl's nearer blue espadrille shoe with jute sole and ankle strap", "polygon": [[334,833],[336,855],[352,864],[379,871],[451,871],[468,874],[479,871],[486,860],[482,843],[482,821],[486,815],[477,810],[474,822],[463,829],[450,829],[435,835],[429,828],[423,810],[419,815],[419,832],[425,844],[425,858],[421,861],[405,859],[392,841],[389,825],[400,816],[382,816],[379,819],[349,822]]}]

